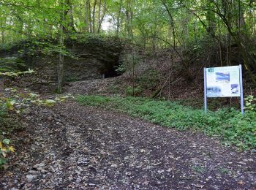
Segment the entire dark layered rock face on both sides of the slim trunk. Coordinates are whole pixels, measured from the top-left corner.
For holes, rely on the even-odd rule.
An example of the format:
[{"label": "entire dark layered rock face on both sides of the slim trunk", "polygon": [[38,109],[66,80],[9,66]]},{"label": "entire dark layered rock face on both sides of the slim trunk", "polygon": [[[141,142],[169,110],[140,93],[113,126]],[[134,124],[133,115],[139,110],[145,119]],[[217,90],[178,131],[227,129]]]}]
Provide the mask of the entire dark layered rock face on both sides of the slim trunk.
[{"label": "entire dark layered rock face on both sides of the slim trunk", "polygon": [[[55,43],[54,41],[52,42]],[[23,45],[22,45],[23,44]],[[44,42],[38,45],[34,42],[20,42],[8,50],[0,50],[0,58],[19,58],[31,68],[38,70],[40,78],[46,81],[56,81],[58,53],[45,56],[42,53]],[[65,57],[65,80],[67,82],[88,80],[118,75],[116,66],[120,64],[122,52],[121,40],[114,37],[89,37],[82,34],[76,39],[67,39],[67,50],[74,57]],[[49,47],[49,46],[48,46]],[[48,48],[47,47],[47,48]],[[34,50],[35,53],[31,53]]]}]

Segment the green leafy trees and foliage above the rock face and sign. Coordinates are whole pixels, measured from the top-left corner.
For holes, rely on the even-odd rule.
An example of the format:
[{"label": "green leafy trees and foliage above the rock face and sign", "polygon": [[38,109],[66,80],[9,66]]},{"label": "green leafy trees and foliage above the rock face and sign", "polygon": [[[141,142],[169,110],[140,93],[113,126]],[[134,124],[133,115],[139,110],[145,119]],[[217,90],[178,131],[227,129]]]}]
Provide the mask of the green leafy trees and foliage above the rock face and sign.
[{"label": "green leafy trees and foliage above the rock face and sign", "polygon": [[1,0],[1,46],[34,37],[64,45],[77,33],[125,37],[153,52],[172,47],[187,70],[193,58],[186,56],[197,58],[198,52],[206,64],[244,64],[256,84],[255,5],[254,0]]}]

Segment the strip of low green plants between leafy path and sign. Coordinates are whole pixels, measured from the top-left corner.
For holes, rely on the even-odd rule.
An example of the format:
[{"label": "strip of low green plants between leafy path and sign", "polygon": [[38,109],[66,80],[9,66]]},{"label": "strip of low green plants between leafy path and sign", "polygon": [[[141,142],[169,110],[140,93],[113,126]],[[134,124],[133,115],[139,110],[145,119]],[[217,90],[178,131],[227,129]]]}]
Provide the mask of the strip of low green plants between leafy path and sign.
[{"label": "strip of low green plants between leafy path and sign", "polygon": [[255,112],[241,115],[239,110],[225,108],[216,112],[209,111],[205,115],[203,110],[177,102],[139,97],[77,96],[76,100],[83,105],[117,110],[162,126],[216,135],[226,145],[236,145],[240,149],[256,148]]}]

